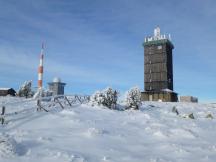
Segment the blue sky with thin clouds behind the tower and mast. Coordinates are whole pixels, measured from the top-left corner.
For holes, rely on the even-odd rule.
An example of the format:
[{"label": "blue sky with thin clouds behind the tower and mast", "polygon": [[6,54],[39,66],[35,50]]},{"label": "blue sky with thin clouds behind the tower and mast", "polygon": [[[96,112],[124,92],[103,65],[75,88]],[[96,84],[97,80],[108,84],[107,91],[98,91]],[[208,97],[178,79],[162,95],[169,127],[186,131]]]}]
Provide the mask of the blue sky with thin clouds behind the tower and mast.
[{"label": "blue sky with thin clouds behind the tower and mast", "polygon": [[216,101],[215,0],[0,0],[0,87],[59,76],[66,93],[144,89],[144,37],[159,25],[175,49],[174,90]]}]

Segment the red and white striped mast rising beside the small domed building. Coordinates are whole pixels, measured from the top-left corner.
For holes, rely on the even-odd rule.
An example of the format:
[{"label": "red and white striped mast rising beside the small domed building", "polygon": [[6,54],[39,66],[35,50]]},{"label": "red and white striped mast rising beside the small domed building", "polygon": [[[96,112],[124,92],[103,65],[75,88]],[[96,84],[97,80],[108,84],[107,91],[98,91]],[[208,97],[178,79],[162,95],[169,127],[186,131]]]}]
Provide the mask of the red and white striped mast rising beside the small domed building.
[{"label": "red and white striped mast rising beside the small domed building", "polygon": [[43,60],[44,59],[44,43],[42,43],[41,53],[40,53],[40,63],[38,68],[38,89],[41,90],[43,86]]}]

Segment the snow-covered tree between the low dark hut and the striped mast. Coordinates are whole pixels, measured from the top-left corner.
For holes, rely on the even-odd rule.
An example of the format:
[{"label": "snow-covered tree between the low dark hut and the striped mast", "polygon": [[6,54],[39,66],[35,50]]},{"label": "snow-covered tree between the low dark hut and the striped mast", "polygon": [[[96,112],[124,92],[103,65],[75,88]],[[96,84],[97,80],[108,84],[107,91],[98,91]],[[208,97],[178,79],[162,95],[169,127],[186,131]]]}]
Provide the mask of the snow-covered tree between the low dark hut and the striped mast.
[{"label": "snow-covered tree between the low dark hut and the striped mast", "polygon": [[33,91],[31,89],[32,86],[32,81],[25,81],[22,86],[20,87],[20,89],[18,90],[17,95],[19,97],[32,97],[33,96]]}]

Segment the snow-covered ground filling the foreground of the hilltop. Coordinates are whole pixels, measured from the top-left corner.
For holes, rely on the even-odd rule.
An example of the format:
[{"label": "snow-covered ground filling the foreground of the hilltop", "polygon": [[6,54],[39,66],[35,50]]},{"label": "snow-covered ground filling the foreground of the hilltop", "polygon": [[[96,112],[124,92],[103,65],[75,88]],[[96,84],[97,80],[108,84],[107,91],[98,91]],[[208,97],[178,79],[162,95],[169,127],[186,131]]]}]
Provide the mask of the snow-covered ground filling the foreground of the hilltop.
[{"label": "snow-covered ground filling the foreground of the hilltop", "polygon": [[[216,117],[213,104],[145,102],[139,111],[83,104],[36,112],[35,101],[2,102],[8,115],[0,125],[1,162],[216,161],[216,120],[206,118]],[[195,119],[183,117],[190,113]]]}]

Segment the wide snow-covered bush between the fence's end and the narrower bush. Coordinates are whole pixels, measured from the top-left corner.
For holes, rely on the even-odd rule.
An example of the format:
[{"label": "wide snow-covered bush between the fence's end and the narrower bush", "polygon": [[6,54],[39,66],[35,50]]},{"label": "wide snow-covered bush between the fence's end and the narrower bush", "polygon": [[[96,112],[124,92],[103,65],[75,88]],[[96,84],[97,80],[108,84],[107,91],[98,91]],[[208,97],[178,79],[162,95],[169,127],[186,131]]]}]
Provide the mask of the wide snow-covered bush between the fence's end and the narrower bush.
[{"label": "wide snow-covered bush between the fence's end and the narrower bush", "polygon": [[91,103],[94,105],[103,105],[110,109],[115,108],[117,100],[118,92],[110,87],[102,91],[96,91],[90,99]]}]

